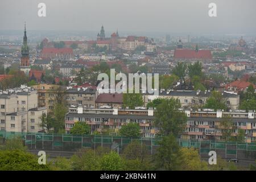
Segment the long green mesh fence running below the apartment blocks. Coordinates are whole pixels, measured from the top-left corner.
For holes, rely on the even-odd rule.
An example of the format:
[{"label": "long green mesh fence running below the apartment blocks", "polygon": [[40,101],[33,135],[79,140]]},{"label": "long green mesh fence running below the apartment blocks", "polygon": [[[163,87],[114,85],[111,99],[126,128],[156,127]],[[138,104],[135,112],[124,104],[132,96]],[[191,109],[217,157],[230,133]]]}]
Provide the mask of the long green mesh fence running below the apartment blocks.
[{"label": "long green mesh fence running below the apartment blocks", "polygon": [[[146,146],[150,154],[155,154],[160,138],[130,138],[109,135],[82,135],[69,134],[45,134],[45,133],[15,133],[0,131],[2,140],[21,137],[31,150],[62,150],[75,151],[81,147],[96,148],[98,146],[118,146],[120,150],[129,143],[138,142]],[[177,139],[181,147],[193,147],[200,154],[207,155],[210,150],[221,152],[221,154],[242,156],[243,158],[255,158],[256,143],[226,142],[216,140],[183,140]],[[249,156],[250,155],[250,156]]]}]

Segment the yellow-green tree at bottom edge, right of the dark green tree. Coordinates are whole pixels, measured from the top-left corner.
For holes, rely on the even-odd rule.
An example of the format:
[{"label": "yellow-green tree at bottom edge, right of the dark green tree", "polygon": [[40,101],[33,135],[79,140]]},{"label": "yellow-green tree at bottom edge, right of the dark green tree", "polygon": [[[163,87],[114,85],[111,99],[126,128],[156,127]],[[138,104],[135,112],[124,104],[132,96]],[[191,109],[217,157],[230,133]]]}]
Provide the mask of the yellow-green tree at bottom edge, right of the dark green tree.
[{"label": "yellow-green tree at bottom edge, right of the dark green tree", "polygon": [[200,155],[195,148],[180,148],[179,169],[182,171],[201,171],[207,170],[207,162],[201,162]]}]

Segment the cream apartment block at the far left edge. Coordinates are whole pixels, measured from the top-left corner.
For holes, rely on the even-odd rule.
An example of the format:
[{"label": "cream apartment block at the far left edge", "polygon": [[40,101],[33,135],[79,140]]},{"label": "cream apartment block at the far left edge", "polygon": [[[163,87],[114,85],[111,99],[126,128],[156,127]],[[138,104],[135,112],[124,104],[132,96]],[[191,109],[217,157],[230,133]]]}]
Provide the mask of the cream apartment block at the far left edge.
[{"label": "cream apartment block at the far left edge", "polygon": [[[21,86],[0,92],[0,130],[13,132],[39,132],[46,107],[38,106],[36,90]],[[32,114],[31,114],[32,113]]]}]

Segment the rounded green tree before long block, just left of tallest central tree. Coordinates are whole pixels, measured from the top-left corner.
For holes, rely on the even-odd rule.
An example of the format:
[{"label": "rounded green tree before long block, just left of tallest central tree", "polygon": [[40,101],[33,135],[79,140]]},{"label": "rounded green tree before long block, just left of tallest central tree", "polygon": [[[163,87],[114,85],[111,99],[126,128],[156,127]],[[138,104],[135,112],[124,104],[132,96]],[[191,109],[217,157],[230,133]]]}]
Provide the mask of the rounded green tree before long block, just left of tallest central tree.
[{"label": "rounded green tree before long block, just left of tallest central tree", "polygon": [[126,126],[121,127],[119,134],[123,137],[140,137],[141,128],[138,123],[127,123]]}]

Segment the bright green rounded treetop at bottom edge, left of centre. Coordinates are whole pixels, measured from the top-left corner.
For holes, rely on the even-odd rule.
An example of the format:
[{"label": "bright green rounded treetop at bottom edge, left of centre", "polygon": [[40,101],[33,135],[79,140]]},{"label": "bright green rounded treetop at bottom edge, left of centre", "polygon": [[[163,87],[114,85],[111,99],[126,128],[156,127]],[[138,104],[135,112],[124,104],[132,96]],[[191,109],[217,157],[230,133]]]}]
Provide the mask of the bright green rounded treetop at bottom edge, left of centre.
[{"label": "bright green rounded treetop at bottom edge, left of centre", "polygon": [[117,152],[111,151],[102,156],[100,160],[100,169],[104,171],[119,171],[123,169],[123,162]]}]

